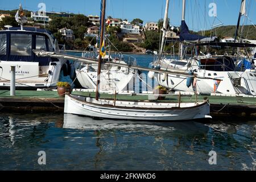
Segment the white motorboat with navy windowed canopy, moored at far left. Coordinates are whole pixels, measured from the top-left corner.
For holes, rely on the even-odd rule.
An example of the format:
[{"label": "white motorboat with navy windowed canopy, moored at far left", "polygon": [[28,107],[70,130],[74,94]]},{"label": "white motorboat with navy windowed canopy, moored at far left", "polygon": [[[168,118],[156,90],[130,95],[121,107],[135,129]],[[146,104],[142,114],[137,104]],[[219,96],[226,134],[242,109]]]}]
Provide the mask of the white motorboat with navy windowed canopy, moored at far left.
[{"label": "white motorboat with navy windowed canopy, moored at far left", "polygon": [[[17,15],[21,11],[20,6]],[[23,18],[18,20],[20,27],[0,31],[0,88],[10,88],[11,66],[15,66],[16,88],[55,88],[61,70],[65,67],[67,72],[67,61],[36,56],[34,49],[58,53],[59,46],[51,32],[23,27]]]}]

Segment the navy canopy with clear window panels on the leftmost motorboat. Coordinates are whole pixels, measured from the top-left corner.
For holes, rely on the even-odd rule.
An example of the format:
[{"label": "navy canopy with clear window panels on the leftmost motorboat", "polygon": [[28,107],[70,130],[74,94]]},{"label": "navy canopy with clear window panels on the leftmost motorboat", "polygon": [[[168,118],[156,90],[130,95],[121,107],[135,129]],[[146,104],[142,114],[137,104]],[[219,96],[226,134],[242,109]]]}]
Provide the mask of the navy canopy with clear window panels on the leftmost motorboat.
[{"label": "navy canopy with clear window panels on the leftmost motorboat", "polygon": [[52,61],[50,57],[38,57],[32,51],[39,49],[54,52],[51,33],[33,27],[10,28],[0,31],[0,60],[38,62],[39,66],[47,66]]}]

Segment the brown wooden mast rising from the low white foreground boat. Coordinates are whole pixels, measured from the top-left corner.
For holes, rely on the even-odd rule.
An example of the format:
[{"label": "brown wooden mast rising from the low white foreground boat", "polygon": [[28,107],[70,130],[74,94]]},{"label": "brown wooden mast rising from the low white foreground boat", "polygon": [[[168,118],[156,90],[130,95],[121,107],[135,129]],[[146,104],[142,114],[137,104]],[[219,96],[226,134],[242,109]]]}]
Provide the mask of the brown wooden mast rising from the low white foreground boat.
[{"label": "brown wooden mast rising from the low white foreground boat", "polygon": [[[100,40],[100,51],[102,48],[104,36],[105,36],[105,10],[106,10],[106,0],[101,0],[102,7],[101,7],[101,40]],[[100,80],[101,80],[101,61],[102,56],[99,54],[98,59],[98,73],[97,73],[97,88],[96,88],[96,100],[98,101],[98,98],[100,96],[99,90],[100,90]]]}]

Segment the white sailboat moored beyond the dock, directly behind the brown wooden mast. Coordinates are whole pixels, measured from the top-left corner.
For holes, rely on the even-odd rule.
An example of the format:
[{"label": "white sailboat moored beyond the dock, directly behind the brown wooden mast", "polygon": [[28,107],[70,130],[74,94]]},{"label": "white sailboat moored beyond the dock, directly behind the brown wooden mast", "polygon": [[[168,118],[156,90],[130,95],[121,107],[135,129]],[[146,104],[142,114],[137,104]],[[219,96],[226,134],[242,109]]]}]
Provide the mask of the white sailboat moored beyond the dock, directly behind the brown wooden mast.
[{"label": "white sailboat moored beyond the dock, directly behind the brown wooden mast", "polygon": [[[109,27],[109,23],[110,21],[108,20],[106,22],[106,24],[108,24],[108,27]],[[82,53],[82,56],[87,58],[87,56],[97,55],[96,57],[99,58],[101,54],[102,61],[104,62],[137,65],[137,61],[133,56],[123,55],[121,52],[111,54],[110,47],[112,47],[112,43],[109,40],[110,35],[105,36],[105,32],[104,32],[103,36],[104,36],[103,44],[105,44],[106,42],[105,40],[108,40],[108,44],[109,44],[108,53],[106,52],[106,48],[100,44],[101,49],[99,53],[97,52]],[[80,67],[76,69],[77,80],[80,82],[80,85],[83,88],[94,89],[94,90],[97,88],[97,69],[98,69],[98,64],[86,64],[86,63],[81,64]],[[134,90],[133,86],[129,88],[129,85],[132,85],[133,80],[136,79],[138,76],[139,76],[139,73],[136,69],[129,69],[129,68],[118,67],[113,65],[108,65],[104,68],[102,67],[100,90],[102,92],[113,92],[114,90],[117,92],[133,91]]]}]

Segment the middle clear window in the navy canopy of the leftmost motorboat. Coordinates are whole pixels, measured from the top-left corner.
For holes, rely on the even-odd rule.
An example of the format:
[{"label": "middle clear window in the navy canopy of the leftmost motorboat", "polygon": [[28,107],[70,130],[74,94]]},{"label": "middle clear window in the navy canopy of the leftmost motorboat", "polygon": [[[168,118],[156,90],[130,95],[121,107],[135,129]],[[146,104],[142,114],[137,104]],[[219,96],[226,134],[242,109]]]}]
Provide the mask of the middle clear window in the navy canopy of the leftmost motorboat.
[{"label": "middle clear window in the navy canopy of the leftmost motorboat", "polygon": [[31,56],[32,35],[11,34],[11,55]]}]

